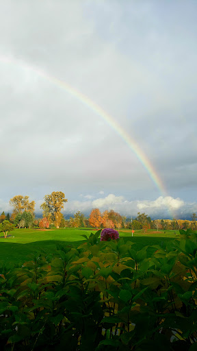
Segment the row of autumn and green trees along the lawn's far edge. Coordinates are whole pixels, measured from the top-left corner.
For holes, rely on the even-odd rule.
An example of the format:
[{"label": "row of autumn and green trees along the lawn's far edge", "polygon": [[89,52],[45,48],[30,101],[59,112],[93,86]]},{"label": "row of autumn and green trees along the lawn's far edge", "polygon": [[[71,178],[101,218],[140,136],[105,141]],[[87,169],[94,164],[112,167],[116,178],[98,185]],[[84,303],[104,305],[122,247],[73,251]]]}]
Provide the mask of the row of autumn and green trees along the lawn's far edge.
[{"label": "row of autumn and green trees along the lawn's far edge", "polygon": [[27,195],[16,195],[9,202],[13,208],[12,214],[8,213],[5,215],[4,211],[1,213],[0,232],[3,232],[3,230],[5,232],[5,229],[9,231],[11,224],[18,228],[49,228],[50,226],[55,226],[56,228],[127,228],[131,230],[142,229],[144,232],[148,229],[157,231],[197,229],[196,213],[192,214],[192,221],[182,219],[152,220],[150,216],[140,212],[137,213],[135,219],[128,219],[114,210],[105,210],[101,213],[99,208],[93,208],[89,217],[77,211],[74,217],[66,220],[61,212],[65,202],[68,202],[68,199],[65,198],[64,193],[61,191],[53,191],[50,195],[45,195],[44,202],[40,205],[42,219],[36,219],[34,213],[35,202],[29,202],[29,196]]}]

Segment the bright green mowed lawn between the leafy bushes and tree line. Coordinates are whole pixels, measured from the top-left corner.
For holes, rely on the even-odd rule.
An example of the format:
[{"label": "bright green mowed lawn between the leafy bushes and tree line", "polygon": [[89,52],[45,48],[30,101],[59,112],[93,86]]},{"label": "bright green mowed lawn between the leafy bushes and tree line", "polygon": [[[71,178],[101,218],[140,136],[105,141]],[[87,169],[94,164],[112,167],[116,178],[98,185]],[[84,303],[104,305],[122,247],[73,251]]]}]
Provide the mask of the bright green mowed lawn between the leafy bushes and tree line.
[{"label": "bright green mowed lawn between the leafy bushes and tree line", "polygon": [[[86,234],[89,237],[91,232],[95,230],[87,230],[84,228],[65,228],[57,230],[37,230],[37,229],[15,229],[9,233],[11,236],[4,239],[0,237],[0,267],[11,263],[13,265],[21,265],[29,260],[29,255],[36,252],[44,252],[46,254],[53,253],[59,245],[75,245],[85,241],[81,235]],[[1,233],[2,235],[3,233]],[[133,249],[140,250],[146,245],[166,245],[169,240],[177,237],[174,230],[164,230],[155,232],[148,230],[146,234],[142,230],[135,230],[133,237],[131,230],[119,230],[120,237],[133,241]],[[179,231],[176,231],[179,234]]]}]

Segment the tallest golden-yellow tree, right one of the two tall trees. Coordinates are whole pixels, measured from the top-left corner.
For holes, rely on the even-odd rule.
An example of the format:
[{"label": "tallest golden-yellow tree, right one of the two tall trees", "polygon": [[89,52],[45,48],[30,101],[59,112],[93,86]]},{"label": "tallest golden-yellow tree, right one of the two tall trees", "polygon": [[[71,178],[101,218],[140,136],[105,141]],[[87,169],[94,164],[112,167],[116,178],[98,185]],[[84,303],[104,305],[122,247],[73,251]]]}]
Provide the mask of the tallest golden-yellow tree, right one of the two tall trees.
[{"label": "tallest golden-yellow tree, right one of the two tall trees", "polygon": [[64,193],[62,191],[53,191],[51,195],[44,196],[44,202],[40,206],[43,210],[43,217],[47,217],[49,223],[54,223],[57,228],[60,227],[62,220],[61,210],[64,208],[64,202],[68,202]]}]

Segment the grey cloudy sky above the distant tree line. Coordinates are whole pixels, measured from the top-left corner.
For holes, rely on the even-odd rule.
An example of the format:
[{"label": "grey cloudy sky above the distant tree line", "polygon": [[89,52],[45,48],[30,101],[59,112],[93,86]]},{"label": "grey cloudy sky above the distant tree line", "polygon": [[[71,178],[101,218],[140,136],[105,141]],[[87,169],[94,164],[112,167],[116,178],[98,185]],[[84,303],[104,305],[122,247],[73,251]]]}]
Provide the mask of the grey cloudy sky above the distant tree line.
[{"label": "grey cloudy sky above the distant tree line", "polygon": [[197,211],[196,0],[0,6],[0,211],[52,191],[67,214]]}]

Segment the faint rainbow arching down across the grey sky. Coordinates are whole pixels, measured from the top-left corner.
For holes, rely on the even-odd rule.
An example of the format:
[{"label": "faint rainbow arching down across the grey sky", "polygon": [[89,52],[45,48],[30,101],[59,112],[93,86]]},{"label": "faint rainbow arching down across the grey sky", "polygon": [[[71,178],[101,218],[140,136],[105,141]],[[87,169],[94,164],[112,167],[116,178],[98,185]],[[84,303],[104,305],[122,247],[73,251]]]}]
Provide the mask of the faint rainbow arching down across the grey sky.
[{"label": "faint rainbow arching down across the grey sky", "polygon": [[132,152],[135,154],[138,160],[140,160],[140,162],[142,163],[142,166],[144,167],[144,169],[146,169],[148,175],[150,176],[150,179],[153,180],[153,183],[155,184],[155,186],[157,186],[159,193],[161,193],[161,195],[163,196],[167,195],[167,191],[165,189],[165,186],[163,185],[163,182],[159,178],[157,171],[154,169],[153,165],[151,164],[146,154],[144,154],[144,152],[137,144],[137,142],[133,138],[131,138],[131,136],[121,127],[121,125],[118,122],[116,122],[114,118],[110,116],[110,114],[108,114],[105,110],[103,110],[101,106],[97,105],[88,96],[84,95],[79,90],[73,88],[73,86],[70,86],[63,80],[57,79],[53,75],[49,75],[48,73],[41,71],[37,67],[29,66],[26,62],[23,62],[21,60],[16,60],[15,58],[10,58],[7,56],[6,57],[1,56],[1,55],[0,55],[0,62],[5,62],[6,64],[14,63],[17,66],[20,66],[22,69],[28,69],[30,71],[34,71],[39,76],[43,77],[45,80],[49,80],[49,82],[62,87],[64,90],[66,90],[67,93],[69,93],[70,95],[73,95],[73,97],[81,101],[83,105],[87,106],[101,119],[103,119],[105,123],[107,123],[112,129],[114,129],[115,132],[125,141],[125,143],[127,143],[129,148],[132,150]]}]

